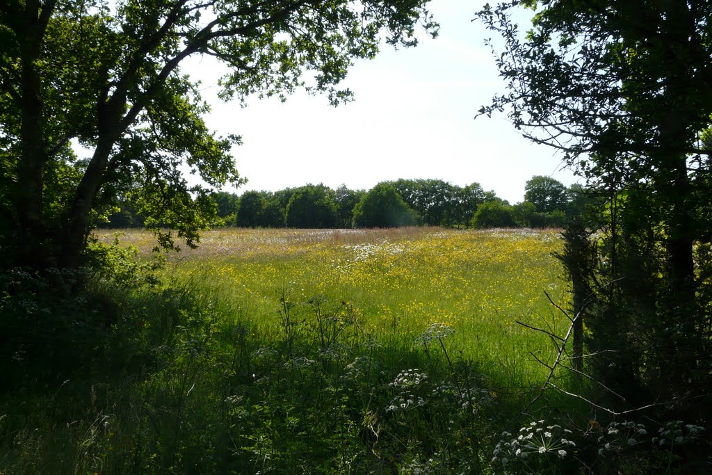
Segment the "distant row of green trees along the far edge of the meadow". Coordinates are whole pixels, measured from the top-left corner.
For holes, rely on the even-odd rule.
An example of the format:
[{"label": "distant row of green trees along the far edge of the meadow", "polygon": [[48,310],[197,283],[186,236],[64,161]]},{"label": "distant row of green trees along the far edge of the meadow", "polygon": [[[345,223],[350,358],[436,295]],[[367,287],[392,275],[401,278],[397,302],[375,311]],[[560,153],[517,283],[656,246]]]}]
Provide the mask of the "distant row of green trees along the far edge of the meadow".
[{"label": "distant row of green trees along the far edge of the meadow", "polygon": [[[535,176],[525,185],[525,200],[509,204],[479,183],[465,187],[441,179],[398,179],[372,189],[342,184],[306,184],[276,192],[248,191],[211,194],[216,211],[212,225],[245,228],[374,228],[444,226],[563,227],[588,199],[579,185],[567,188],[556,179]],[[103,227],[142,225],[129,202],[108,217]]]}]

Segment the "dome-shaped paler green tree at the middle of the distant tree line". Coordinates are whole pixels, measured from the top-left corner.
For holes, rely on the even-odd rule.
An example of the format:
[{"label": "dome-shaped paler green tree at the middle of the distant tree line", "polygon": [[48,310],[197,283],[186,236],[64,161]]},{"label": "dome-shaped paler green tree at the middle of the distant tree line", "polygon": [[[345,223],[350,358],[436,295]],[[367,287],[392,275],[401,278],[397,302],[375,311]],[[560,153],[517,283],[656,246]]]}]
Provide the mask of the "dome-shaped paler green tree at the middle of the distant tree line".
[{"label": "dome-shaped paler green tree at the middle of the distant tree line", "polygon": [[417,213],[392,184],[379,183],[354,208],[355,228],[395,228],[416,224]]}]

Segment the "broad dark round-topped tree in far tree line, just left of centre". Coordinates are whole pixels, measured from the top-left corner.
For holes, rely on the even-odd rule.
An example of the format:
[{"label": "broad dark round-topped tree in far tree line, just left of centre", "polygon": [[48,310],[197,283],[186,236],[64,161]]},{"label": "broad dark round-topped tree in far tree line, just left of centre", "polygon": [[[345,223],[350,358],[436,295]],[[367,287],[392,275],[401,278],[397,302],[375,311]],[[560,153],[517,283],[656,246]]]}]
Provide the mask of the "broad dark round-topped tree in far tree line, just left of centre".
[{"label": "broad dark round-topped tree in far tree line, just left of centre", "polygon": [[333,190],[323,184],[298,188],[287,204],[286,223],[293,228],[333,228],[338,211]]}]

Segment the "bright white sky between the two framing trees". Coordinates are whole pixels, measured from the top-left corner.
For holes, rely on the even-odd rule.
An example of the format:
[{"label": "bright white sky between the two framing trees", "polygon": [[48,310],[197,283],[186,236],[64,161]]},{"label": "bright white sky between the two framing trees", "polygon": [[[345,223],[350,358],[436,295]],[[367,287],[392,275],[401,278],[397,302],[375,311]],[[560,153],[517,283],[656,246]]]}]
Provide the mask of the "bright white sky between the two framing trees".
[{"label": "bright white sky between the two framing trees", "polygon": [[357,61],[342,83],[355,100],[336,108],[325,96],[302,92],[286,103],[256,97],[247,107],[223,103],[217,98],[221,67],[211,58],[189,58],[182,71],[201,80],[201,95],[211,105],[206,124],[243,138],[233,153],[248,182],[224,191],[308,183],[370,189],[399,178],[443,179],[459,186],[478,182],[515,203],[534,175],[575,182],[561,155],[525,140],[504,115],[475,120],[482,105],[505,91],[484,45],[493,33],[471,21],[482,5],[431,1],[438,38],[398,51],[384,45],[374,60]]}]

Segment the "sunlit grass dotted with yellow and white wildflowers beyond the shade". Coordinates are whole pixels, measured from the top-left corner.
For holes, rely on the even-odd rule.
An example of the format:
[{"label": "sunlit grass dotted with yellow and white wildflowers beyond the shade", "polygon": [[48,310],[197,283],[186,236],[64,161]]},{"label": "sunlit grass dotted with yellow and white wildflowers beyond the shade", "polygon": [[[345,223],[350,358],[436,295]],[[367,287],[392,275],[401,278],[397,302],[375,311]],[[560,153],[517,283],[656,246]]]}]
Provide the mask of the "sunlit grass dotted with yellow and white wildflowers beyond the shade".
[{"label": "sunlit grass dotted with yellow and white wildflowers beyond the shade", "polygon": [[[152,236],[122,241],[149,251]],[[365,318],[371,338],[412,344],[431,323],[456,329],[461,357],[503,387],[534,385],[548,371],[542,334],[516,320],[560,331],[566,306],[557,231],[381,230],[209,231],[198,249],[170,259],[164,278],[221,293],[265,338],[279,333],[281,298],[298,306],[321,296]]]}]

